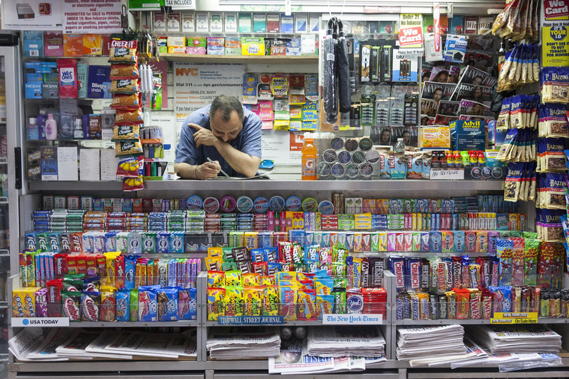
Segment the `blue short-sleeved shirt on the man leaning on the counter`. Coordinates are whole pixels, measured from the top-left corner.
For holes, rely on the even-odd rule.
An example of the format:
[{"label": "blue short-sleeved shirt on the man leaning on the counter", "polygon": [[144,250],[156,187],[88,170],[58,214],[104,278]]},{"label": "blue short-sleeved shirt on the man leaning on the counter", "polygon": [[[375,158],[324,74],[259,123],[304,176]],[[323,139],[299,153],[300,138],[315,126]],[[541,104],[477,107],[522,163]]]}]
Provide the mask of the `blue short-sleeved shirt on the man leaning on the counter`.
[{"label": "blue short-sleeved shirt on the man leaning on the counter", "polygon": [[[244,175],[237,173],[237,171],[231,168],[215,147],[201,145],[196,148],[194,133],[197,131],[192,127],[188,127],[188,123],[198,124],[200,127],[211,130],[208,114],[209,107],[211,105],[196,110],[192,115],[184,119],[182,132],[180,132],[180,141],[176,149],[176,163],[201,165],[207,162],[209,157],[212,161],[218,161],[221,165],[221,170],[225,171],[229,176],[244,177]],[[243,129],[229,144],[242,153],[261,158],[261,119],[245,107],[243,107],[243,112],[245,115]],[[223,174],[219,173],[219,175]]]}]

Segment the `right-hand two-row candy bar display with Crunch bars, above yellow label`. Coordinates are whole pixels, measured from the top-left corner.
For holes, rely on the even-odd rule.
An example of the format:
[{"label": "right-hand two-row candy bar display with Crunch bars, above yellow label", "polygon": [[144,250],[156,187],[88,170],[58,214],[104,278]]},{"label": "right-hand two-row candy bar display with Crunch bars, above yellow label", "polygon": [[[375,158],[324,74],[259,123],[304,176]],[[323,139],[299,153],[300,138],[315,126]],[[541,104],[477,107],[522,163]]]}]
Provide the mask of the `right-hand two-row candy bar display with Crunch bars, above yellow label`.
[{"label": "right-hand two-row candy bar display with Crunch bars, above yellow label", "polygon": [[489,319],[496,312],[568,317],[563,249],[527,238],[495,241],[491,257],[389,258],[397,320]]}]

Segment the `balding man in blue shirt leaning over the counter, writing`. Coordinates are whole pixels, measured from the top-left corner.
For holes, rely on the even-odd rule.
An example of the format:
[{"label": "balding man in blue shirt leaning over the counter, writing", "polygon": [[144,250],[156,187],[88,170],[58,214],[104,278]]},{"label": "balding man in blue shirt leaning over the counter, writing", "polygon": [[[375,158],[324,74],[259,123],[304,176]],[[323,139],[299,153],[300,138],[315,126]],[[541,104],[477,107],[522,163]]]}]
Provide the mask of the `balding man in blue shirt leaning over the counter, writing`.
[{"label": "balding man in blue shirt leaning over the counter, writing", "polygon": [[259,116],[235,96],[218,96],[184,120],[175,172],[182,179],[199,180],[216,177],[221,170],[229,176],[256,175],[261,163],[261,124]]}]

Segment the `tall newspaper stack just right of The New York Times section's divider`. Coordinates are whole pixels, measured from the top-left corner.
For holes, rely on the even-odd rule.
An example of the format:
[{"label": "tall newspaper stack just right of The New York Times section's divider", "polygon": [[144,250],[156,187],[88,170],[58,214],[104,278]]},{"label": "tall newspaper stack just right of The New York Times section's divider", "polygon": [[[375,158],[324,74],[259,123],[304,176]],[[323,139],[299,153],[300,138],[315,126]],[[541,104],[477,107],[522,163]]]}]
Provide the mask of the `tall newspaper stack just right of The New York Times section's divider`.
[{"label": "tall newspaper stack just right of The New York Times section's divider", "polygon": [[[456,359],[467,357],[464,346],[464,327],[444,325],[440,327],[397,328],[397,359],[409,361],[411,366],[427,364],[447,356]],[[427,359],[433,358],[433,359]]]}]

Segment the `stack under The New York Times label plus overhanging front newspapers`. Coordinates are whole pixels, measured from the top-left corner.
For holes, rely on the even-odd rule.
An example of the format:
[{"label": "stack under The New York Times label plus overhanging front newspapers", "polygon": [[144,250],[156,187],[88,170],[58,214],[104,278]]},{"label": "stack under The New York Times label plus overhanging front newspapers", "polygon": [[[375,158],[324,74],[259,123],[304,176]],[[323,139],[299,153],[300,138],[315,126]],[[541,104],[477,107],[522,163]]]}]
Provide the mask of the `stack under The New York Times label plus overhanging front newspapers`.
[{"label": "stack under The New York Times label plus overhanging front newspapers", "polygon": [[364,371],[385,361],[385,339],[377,326],[312,327],[304,340],[282,342],[280,354],[269,358],[269,373]]}]

